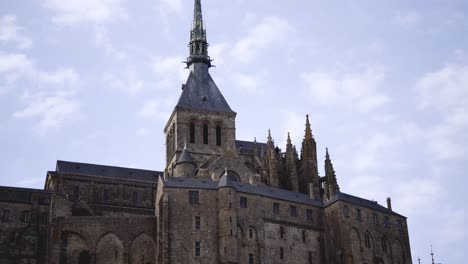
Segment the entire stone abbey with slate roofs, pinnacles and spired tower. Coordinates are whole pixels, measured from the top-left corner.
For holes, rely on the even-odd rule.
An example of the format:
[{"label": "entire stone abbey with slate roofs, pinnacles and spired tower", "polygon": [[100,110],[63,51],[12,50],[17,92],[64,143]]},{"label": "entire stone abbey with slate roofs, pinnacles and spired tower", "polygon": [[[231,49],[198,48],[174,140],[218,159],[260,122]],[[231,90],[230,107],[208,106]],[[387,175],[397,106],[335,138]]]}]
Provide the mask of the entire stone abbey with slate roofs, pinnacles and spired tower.
[{"label": "entire stone abbey with slate roofs, pinnacles and spired tower", "polygon": [[340,190],[308,117],[300,152],[236,139],[200,0],[189,47],[166,167],[57,161],[44,190],[1,187],[0,264],[412,263],[406,218]]}]

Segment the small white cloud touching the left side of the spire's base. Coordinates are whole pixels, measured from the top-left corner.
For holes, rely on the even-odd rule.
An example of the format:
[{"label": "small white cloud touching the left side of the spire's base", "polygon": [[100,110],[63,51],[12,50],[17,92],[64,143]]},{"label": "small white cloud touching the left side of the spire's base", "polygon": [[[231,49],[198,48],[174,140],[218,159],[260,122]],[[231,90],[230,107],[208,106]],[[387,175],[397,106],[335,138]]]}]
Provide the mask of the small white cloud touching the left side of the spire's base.
[{"label": "small white cloud touching the left side of the spire's base", "polygon": [[151,68],[159,79],[158,87],[170,88],[185,82],[188,72],[185,70],[183,61],[184,59],[179,56],[152,59]]}]

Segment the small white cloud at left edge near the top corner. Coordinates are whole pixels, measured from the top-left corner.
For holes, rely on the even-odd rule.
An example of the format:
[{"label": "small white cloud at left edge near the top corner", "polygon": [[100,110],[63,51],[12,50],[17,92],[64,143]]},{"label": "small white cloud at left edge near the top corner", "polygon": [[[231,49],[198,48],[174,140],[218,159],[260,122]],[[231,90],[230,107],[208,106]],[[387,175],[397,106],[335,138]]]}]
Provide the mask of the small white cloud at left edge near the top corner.
[{"label": "small white cloud at left edge near the top corner", "polygon": [[18,26],[16,16],[4,15],[0,18],[0,43],[15,44],[18,49],[28,49],[32,47],[32,40],[23,35],[23,28]]}]

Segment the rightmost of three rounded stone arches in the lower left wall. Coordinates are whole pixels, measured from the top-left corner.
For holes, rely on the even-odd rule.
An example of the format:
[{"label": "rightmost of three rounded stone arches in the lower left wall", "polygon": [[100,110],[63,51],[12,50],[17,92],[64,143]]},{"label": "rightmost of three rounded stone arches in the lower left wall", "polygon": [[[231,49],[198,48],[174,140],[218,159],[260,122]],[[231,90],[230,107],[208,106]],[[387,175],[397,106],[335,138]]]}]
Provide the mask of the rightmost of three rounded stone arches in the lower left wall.
[{"label": "rightmost of three rounded stone arches in the lower left wall", "polygon": [[136,236],[130,245],[130,263],[154,264],[156,261],[156,244],[153,238],[145,233]]}]

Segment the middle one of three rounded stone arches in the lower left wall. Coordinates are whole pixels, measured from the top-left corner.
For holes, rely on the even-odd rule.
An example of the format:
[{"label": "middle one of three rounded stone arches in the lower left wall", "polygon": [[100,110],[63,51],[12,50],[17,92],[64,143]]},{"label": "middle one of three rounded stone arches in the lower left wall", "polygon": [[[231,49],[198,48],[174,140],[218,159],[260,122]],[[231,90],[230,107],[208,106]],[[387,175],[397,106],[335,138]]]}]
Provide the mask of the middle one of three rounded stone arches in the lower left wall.
[{"label": "middle one of three rounded stone arches in the lower left wall", "polygon": [[123,264],[124,245],[113,233],[103,235],[96,244],[96,263]]}]

